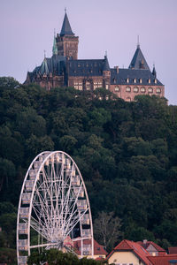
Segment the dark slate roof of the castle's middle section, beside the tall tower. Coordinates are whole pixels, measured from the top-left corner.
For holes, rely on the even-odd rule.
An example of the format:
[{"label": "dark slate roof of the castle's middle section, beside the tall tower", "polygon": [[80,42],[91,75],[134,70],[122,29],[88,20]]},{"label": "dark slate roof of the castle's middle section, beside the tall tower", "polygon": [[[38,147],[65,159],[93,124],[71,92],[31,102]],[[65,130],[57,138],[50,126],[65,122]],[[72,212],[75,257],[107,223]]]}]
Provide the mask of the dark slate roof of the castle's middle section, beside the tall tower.
[{"label": "dark slate roof of the castle's middle section, beside the tall tower", "polygon": [[67,64],[70,76],[102,76],[105,59],[69,60]]}]

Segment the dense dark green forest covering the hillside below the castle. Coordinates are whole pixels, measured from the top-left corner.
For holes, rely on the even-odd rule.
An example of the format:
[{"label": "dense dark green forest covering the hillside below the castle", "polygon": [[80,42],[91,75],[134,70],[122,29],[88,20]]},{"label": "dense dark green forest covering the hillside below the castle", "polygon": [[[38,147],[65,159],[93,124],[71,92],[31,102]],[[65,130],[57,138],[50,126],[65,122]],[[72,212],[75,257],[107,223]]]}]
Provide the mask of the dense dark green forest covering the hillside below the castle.
[{"label": "dense dark green forest covering the hillside below the castle", "polygon": [[[108,252],[121,239],[153,240],[165,249],[177,246],[177,106],[149,95],[125,102],[103,88],[47,91],[4,77],[1,261],[14,260],[21,186],[29,164],[44,150],[73,157],[87,186],[93,223],[103,213],[120,221]],[[103,244],[99,235],[95,238]]]}]

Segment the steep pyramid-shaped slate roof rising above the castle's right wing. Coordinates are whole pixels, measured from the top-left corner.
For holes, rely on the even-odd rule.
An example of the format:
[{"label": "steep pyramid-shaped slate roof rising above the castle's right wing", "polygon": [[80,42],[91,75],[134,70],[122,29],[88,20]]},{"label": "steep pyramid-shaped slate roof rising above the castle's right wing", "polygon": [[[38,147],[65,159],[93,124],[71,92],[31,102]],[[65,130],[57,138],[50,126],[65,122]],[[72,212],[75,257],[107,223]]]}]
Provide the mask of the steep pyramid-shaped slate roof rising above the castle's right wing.
[{"label": "steep pyramid-shaped slate roof rising above the castle's right wing", "polygon": [[144,69],[144,70],[150,70],[149,65],[147,64],[145,58],[142,55],[142,50],[140,49],[140,45],[137,46],[137,49],[135,50],[135,55],[129,65],[130,69]]}]

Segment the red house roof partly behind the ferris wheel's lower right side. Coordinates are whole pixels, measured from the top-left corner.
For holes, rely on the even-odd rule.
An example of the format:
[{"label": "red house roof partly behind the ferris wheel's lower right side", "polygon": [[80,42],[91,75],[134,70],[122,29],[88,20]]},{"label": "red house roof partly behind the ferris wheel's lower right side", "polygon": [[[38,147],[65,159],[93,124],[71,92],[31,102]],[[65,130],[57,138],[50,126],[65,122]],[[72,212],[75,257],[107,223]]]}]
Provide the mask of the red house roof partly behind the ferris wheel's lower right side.
[{"label": "red house roof partly behind the ferris wheel's lower right side", "polygon": [[[83,240],[83,245],[91,245],[91,239]],[[73,246],[76,248],[76,253],[81,254],[81,240],[77,240],[73,242]],[[108,253],[105,251],[104,246],[99,245],[94,239],[94,254],[95,255],[107,255]]]}]

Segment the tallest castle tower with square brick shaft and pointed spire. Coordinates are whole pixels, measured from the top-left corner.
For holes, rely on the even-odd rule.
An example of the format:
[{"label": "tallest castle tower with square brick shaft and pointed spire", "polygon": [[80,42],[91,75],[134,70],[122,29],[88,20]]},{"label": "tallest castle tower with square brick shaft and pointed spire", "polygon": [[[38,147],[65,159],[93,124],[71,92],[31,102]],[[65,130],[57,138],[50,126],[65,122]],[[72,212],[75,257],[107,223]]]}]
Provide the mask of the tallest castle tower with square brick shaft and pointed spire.
[{"label": "tallest castle tower with square brick shaft and pointed spire", "polygon": [[73,60],[78,59],[79,37],[76,37],[73,34],[66,11],[63,26],[60,34],[56,37],[56,42],[58,47],[58,56],[68,57]]}]

